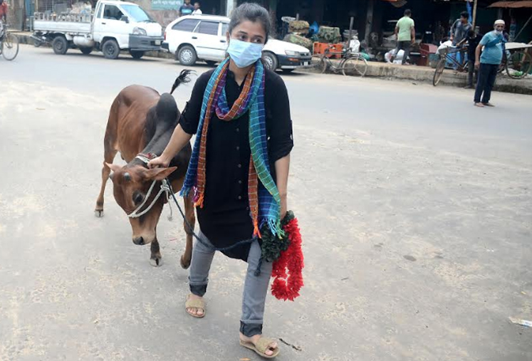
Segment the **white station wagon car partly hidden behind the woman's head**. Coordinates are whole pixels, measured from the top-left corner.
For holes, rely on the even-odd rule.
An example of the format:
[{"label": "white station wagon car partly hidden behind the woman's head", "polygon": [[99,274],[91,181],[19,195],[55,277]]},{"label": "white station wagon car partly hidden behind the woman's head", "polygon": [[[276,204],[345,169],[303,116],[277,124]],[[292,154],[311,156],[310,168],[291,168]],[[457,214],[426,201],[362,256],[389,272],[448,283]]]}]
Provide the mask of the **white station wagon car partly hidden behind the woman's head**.
[{"label": "white station wagon car partly hidden behind the woman's head", "polygon": [[[192,66],[197,61],[214,65],[226,56],[227,28],[229,18],[226,16],[182,16],[167,26],[162,48],[175,54],[176,60],[184,66]],[[307,48],[275,39],[268,40],[262,51],[266,68],[282,69],[287,73],[310,66],[311,58]]]}]

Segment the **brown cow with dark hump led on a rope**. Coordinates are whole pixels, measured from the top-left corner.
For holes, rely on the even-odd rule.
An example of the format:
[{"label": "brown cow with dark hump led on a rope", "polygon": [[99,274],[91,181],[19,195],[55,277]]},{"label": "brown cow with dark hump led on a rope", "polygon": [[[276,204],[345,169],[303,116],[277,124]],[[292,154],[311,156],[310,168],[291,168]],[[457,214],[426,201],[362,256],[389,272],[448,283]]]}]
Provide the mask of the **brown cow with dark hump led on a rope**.
[{"label": "brown cow with dark hump led on a rope", "polygon": [[[133,231],[134,244],[151,244],[150,263],[161,266],[162,258],[157,241],[157,222],[162,207],[167,202],[165,193],[157,199],[146,214],[132,218],[149,208],[161,189],[162,180],[167,178],[174,191],[181,189],[187,172],[192,148],[190,144],[177,154],[168,168],[147,168],[147,155],[161,155],[179,120],[179,110],[171,95],[181,83],[189,82],[190,70],[183,70],[175,80],[170,94],[159,95],[152,88],[130,85],[124,88],[111,105],[104,139],[104,162],[102,187],[96,200],[95,215],[103,216],[103,193],[108,177],[113,180],[113,194],[116,202],[128,214]],[[120,167],[113,164],[117,152],[127,164]],[[113,174],[110,175],[111,170]],[[155,182],[155,184],[154,184]],[[147,194],[153,184],[148,199]],[[194,204],[192,197],[184,199],[185,218],[194,228]],[[192,232],[184,222],[187,246],[181,256],[181,266],[188,268],[192,257]]]}]

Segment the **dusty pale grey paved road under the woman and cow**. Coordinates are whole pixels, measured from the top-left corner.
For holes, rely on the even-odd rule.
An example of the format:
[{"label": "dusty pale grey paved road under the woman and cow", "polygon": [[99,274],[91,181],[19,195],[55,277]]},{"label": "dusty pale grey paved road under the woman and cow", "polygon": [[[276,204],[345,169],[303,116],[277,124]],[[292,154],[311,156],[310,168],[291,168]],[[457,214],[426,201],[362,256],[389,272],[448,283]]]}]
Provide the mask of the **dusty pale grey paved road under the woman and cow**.
[{"label": "dusty pale grey paved road under the woman and cow", "polygon": [[[177,223],[152,268],[111,187],[93,216],[114,96],[182,68],[23,46],[0,69],[0,360],[258,360],[236,341],[244,263],[215,258],[193,319]],[[283,78],[306,286],[268,298],[265,333],[300,348],[278,360],[532,360],[532,329],[508,321],[532,319],[532,98]]]}]

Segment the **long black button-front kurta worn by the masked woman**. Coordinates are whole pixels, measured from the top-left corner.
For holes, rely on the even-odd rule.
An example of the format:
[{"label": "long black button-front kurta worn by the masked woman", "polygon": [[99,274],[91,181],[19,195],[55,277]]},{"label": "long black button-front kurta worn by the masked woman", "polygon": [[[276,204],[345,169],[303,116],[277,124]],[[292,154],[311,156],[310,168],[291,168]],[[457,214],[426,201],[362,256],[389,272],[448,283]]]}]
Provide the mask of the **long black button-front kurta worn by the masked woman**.
[{"label": "long black button-front kurta worn by the masked woman", "polygon": [[[274,163],[288,155],[293,147],[292,121],[288,93],[283,79],[265,70],[264,110],[271,175],[276,181]],[[188,134],[196,134],[205,88],[214,70],[199,76],[179,124]],[[244,84],[244,82],[242,83]],[[239,86],[231,71],[225,85],[229,108],[239,98]],[[202,233],[217,248],[251,239],[253,224],[249,216],[248,170],[249,112],[238,119],[220,120],[212,114],[207,134],[207,171],[203,208],[197,208]],[[224,252],[231,258],[246,261],[249,244]]]}]

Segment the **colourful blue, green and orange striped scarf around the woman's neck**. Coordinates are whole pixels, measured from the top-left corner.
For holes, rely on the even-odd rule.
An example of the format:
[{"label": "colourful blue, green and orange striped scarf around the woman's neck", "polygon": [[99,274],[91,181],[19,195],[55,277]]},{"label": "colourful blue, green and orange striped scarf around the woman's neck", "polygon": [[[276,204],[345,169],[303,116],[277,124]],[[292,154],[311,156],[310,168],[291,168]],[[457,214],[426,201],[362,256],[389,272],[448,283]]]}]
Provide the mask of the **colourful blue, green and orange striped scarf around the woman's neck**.
[{"label": "colourful blue, green and orange striped scarf around the woman's neck", "polygon": [[249,111],[249,160],[248,196],[254,236],[261,236],[260,229],[268,226],[273,234],[283,236],[281,227],[281,197],[270,173],[266,147],[266,117],[264,113],[264,66],[257,61],[251,68],[239,98],[229,109],[225,93],[229,58],[226,58],[212,73],[203,95],[202,111],[184,179],[181,196],[187,197],[194,189],[194,205],[203,207],[205,194],[205,171],[207,159],[207,132],[213,110],[220,120],[237,119]]}]

